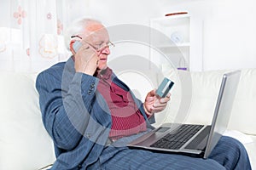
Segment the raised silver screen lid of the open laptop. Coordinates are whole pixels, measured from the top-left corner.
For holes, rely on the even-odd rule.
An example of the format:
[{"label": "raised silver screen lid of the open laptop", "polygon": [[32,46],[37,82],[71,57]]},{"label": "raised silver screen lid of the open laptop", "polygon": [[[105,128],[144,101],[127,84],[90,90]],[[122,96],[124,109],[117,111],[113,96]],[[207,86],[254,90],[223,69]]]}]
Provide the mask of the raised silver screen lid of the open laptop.
[{"label": "raised silver screen lid of the open laptop", "polygon": [[228,126],[240,75],[241,71],[232,71],[223,76],[204,158],[210,155]]}]

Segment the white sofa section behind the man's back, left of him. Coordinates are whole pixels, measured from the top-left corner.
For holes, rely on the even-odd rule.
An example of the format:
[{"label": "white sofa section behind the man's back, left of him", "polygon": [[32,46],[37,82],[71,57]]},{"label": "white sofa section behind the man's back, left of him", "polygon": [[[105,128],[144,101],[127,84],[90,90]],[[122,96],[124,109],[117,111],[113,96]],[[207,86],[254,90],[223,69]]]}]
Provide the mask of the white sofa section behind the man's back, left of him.
[{"label": "white sofa section behind the man's back, left of him", "polygon": [[41,121],[35,75],[0,72],[0,169],[38,169],[55,160]]}]

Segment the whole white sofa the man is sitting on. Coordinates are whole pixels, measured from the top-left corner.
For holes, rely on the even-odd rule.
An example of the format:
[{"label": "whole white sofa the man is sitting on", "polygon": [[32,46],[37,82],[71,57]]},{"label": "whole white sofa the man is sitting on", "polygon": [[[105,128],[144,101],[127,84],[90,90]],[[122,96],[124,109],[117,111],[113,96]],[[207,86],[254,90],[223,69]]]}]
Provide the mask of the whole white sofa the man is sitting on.
[{"label": "whole white sofa the man is sitting on", "polygon": [[[192,72],[192,103],[184,122],[209,123],[218,95],[222,74],[226,71]],[[167,77],[172,72],[165,71]],[[184,80],[189,76],[181,73]],[[55,161],[54,149],[44,130],[35,89],[36,74],[0,72],[0,169],[36,170]],[[172,89],[172,101],[166,111],[157,114],[155,126],[173,122],[179,102],[178,81]],[[256,169],[256,69],[242,70],[235,104],[230,118],[231,135],[246,146],[252,167]],[[172,114],[173,113],[173,114]]]}]

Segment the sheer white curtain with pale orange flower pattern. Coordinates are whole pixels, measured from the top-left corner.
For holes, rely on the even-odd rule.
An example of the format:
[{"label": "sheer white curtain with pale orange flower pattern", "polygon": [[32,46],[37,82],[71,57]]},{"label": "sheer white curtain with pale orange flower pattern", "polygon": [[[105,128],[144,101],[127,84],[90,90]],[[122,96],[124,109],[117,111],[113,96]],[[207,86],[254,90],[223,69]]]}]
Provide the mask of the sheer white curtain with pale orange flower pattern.
[{"label": "sheer white curtain with pale orange flower pattern", "polygon": [[66,60],[63,30],[88,14],[84,0],[2,0],[0,70],[38,72]]}]

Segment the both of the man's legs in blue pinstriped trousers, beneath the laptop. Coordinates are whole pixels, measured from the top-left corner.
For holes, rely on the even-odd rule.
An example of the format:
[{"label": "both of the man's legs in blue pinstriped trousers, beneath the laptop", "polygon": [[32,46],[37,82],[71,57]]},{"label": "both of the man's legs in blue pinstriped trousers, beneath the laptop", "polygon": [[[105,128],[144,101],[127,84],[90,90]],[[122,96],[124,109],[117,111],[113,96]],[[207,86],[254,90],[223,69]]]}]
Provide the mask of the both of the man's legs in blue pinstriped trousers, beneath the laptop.
[{"label": "both of the man's legs in blue pinstriped trousers, beneath the laptop", "polygon": [[[131,150],[127,147],[108,146],[102,152],[96,167],[100,169],[225,169],[234,168],[244,150],[241,143],[222,137],[207,160],[175,154],[154,153],[148,150]],[[244,151],[244,161],[247,153]],[[241,160],[243,161],[243,160]],[[241,163],[241,162],[240,162]],[[224,167],[224,166],[225,167]]]}]

